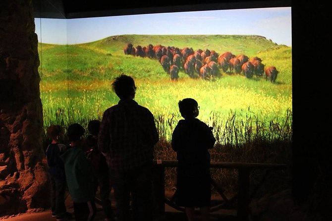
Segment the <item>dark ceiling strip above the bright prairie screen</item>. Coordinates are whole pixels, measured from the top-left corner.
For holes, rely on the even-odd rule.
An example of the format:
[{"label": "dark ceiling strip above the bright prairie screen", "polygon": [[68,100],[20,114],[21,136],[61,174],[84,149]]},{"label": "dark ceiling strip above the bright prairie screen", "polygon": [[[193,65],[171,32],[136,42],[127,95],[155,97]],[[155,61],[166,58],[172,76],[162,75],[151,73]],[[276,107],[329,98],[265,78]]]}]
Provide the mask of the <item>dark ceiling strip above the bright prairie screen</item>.
[{"label": "dark ceiling strip above the bright prairie screen", "polygon": [[32,2],[35,17],[64,19],[192,10],[291,6],[291,0],[32,0]]}]

